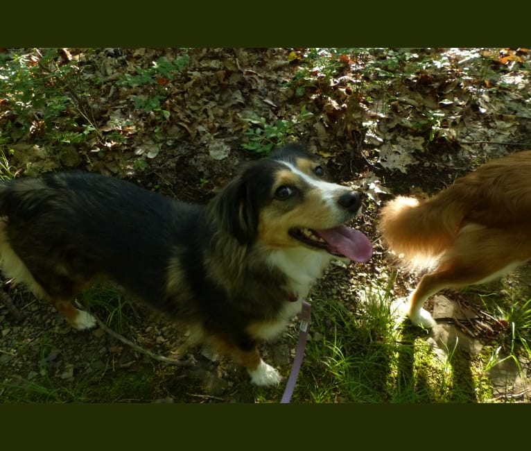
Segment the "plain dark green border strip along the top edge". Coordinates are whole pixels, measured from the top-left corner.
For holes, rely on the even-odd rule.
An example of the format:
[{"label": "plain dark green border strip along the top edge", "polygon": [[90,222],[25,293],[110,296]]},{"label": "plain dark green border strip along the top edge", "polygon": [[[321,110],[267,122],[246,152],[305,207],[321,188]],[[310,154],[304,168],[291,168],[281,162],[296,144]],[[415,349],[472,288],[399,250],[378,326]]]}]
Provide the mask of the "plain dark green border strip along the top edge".
[{"label": "plain dark green border strip along the top edge", "polygon": [[0,46],[526,46],[530,5],[7,2]]}]

